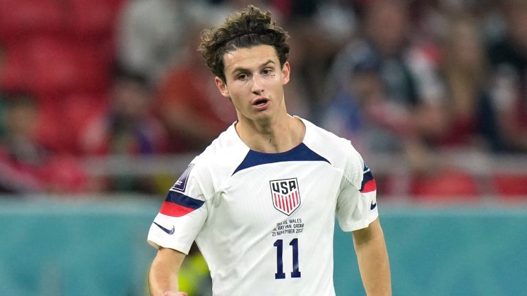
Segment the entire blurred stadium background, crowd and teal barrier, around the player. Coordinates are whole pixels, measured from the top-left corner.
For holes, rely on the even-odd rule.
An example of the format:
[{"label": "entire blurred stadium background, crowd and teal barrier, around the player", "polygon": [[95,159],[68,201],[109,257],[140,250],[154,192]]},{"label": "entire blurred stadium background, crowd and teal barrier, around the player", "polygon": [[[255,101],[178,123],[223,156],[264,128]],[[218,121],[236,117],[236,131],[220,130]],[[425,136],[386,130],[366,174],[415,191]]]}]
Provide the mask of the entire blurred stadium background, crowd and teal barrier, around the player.
[{"label": "entire blurred stadium background, crowd and teal barrier, around the player", "polygon": [[165,192],[233,118],[196,36],[247,3],[292,35],[290,112],[377,178],[394,295],[526,293],[526,1],[0,0],[0,295],[146,295]]}]

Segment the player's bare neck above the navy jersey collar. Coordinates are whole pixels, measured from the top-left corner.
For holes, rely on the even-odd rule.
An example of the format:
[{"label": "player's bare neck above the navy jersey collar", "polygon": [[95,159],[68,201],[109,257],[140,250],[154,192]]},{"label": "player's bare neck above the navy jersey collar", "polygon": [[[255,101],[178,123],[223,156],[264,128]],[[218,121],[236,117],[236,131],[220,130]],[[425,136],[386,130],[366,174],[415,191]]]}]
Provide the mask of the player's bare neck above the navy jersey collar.
[{"label": "player's bare neck above the navy jersey collar", "polygon": [[236,124],[236,132],[251,150],[280,153],[302,143],[305,125],[300,119],[285,114],[282,119],[267,123],[239,121]]}]

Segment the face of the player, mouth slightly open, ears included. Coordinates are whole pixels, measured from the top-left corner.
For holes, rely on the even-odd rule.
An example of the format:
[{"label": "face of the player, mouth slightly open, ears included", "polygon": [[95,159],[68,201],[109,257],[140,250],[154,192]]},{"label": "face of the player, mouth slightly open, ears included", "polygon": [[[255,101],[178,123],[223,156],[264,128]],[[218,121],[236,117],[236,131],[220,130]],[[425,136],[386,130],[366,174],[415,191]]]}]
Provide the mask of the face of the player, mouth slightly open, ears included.
[{"label": "face of the player, mouth slightly open, ears included", "polygon": [[220,93],[229,97],[239,121],[269,121],[283,112],[283,86],[289,82],[290,66],[280,67],[270,45],[229,51],[224,58],[226,82],[215,77]]}]

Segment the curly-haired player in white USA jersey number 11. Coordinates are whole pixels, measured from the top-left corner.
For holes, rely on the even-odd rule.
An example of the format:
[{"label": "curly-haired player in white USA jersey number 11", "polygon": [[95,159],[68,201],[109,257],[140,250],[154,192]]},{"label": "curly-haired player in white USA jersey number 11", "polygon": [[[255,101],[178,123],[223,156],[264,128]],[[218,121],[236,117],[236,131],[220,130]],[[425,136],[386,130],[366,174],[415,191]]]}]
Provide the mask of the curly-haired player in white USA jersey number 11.
[{"label": "curly-haired player in white USA jersey number 11", "polygon": [[215,296],[335,295],[335,217],[353,231],[366,293],[391,295],[375,180],[348,140],[287,113],[286,38],[253,6],[204,32],[238,120],[192,160],[150,227],[151,295],[185,295],[178,270],[194,240]]}]

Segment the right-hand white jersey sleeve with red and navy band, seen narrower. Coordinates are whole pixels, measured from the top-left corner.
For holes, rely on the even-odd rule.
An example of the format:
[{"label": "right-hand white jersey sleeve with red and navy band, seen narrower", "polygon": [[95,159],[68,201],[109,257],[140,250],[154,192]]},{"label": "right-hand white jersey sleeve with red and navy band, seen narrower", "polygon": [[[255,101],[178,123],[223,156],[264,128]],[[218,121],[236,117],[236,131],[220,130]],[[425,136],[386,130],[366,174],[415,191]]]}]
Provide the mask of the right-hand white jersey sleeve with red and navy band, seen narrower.
[{"label": "right-hand white jersey sleeve with red and navy band, seen narrower", "polygon": [[351,232],[377,219],[377,184],[360,154],[351,148],[340,183],[336,216],[340,228]]}]

